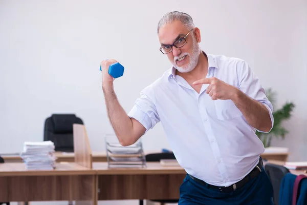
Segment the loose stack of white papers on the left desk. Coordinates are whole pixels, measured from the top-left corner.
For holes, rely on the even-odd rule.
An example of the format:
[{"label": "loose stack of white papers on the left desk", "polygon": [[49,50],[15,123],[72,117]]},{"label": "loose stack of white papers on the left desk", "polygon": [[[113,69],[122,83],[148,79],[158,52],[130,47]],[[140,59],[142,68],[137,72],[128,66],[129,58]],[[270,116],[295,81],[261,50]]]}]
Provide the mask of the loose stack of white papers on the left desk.
[{"label": "loose stack of white papers on the left desk", "polygon": [[55,168],[54,144],[52,141],[24,142],[21,158],[28,170],[53,170]]}]

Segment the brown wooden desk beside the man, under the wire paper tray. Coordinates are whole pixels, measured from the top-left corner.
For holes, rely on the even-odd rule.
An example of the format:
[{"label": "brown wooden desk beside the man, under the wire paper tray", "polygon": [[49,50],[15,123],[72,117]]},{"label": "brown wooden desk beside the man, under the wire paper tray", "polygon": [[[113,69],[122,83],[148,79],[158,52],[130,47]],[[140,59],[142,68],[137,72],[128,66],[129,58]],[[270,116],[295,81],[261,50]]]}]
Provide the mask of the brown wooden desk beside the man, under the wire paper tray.
[{"label": "brown wooden desk beside the man, under the wire paper tray", "polygon": [[108,169],[106,162],[94,162],[98,200],[179,199],[179,188],[186,177],[181,167],[163,167],[147,162],[147,168]]}]

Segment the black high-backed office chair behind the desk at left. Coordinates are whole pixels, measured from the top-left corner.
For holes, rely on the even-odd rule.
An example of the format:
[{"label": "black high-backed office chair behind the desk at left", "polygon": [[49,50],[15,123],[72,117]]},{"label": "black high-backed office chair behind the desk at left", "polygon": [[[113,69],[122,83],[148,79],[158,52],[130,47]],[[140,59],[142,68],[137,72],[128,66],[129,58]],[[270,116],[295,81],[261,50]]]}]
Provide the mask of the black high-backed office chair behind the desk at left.
[{"label": "black high-backed office chair behind the desk at left", "polygon": [[75,114],[53,114],[45,120],[43,140],[52,141],[55,151],[74,152],[73,124],[83,125]]}]

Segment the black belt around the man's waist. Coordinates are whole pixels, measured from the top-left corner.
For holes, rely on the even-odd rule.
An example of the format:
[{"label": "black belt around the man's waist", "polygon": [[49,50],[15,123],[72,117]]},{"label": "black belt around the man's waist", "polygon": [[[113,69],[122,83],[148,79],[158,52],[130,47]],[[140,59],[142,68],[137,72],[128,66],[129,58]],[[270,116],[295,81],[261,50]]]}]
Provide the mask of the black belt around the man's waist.
[{"label": "black belt around the man's waist", "polygon": [[218,189],[221,192],[233,192],[236,189],[242,188],[244,185],[246,185],[246,183],[250,180],[252,180],[253,178],[255,178],[256,176],[258,176],[258,174],[260,174],[262,168],[264,167],[264,164],[262,162],[262,159],[260,157],[258,164],[256,165],[256,167],[248,174],[246,175],[242,180],[234,183],[233,185],[230,185],[229,187],[218,187],[218,186],[214,186],[214,185],[209,185],[209,183],[206,183],[205,181],[195,178],[191,175],[189,175],[194,181],[200,182],[203,185],[208,186],[209,188],[212,189]]}]

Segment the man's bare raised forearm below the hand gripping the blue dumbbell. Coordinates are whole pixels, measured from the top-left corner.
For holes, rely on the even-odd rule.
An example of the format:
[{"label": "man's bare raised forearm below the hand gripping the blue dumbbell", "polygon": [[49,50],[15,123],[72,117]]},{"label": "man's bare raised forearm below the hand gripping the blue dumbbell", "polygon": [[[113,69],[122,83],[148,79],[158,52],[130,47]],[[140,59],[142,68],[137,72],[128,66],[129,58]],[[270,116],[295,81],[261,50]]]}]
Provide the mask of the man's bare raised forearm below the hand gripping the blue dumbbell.
[{"label": "man's bare raised forearm below the hand gripping the blue dumbbell", "polygon": [[126,140],[133,137],[133,123],[119,104],[113,85],[103,87],[103,93],[105,97],[107,115],[113,129],[120,143],[122,145],[127,144]]}]

